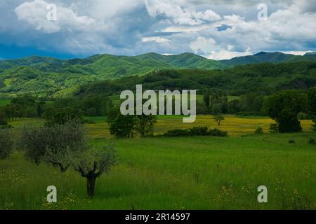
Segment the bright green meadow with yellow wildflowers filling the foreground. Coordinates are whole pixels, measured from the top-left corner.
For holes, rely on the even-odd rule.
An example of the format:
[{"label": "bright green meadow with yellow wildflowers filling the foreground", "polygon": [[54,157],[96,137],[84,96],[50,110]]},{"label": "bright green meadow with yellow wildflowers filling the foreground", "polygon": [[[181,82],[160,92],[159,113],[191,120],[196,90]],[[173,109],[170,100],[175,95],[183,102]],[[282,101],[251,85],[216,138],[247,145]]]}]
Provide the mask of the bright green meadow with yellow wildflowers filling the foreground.
[{"label": "bright green meadow with yellow wildflowers filling the foreground", "polygon": [[[87,125],[94,144],[114,141],[118,164],[86,198],[86,182],[72,170],[61,174],[33,165],[21,152],[0,161],[0,209],[316,209],[316,138],[304,121],[300,134],[251,134],[267,130],[268,118],[227,116],[220,127],[230,137],[110,139],[105,118]],[[17,120],[23,124],[43,120]],[[211,116],[195,125],[216,127]],[[188,125],[188,124],[187,124]],[[155,133],[185,127],[181,118],[160,117]],[[244,137],[241,137],[244,135]],[[294,140],[290,144],[289,140]],[[46,202],[46,188],[58,189],[58,203]],[[267,186],[268,203],[257,202],[258,186]]]}]

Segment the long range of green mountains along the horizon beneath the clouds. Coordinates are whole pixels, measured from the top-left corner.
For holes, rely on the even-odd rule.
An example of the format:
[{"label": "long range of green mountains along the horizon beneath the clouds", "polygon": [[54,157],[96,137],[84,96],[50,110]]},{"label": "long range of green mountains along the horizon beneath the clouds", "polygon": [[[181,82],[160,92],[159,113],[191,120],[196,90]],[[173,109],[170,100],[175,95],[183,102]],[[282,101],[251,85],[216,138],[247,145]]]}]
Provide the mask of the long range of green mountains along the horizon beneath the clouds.
[{"label": "long range of green mountains along the horizon beneath the clouds", "polygon": [[0,61],[0,93],[55,92],[98,80],[144,76],[162,69],[223,70],[243,64],[264,62],[316,62],[316,53],[303,56],[282,52],[259,52],[229,60],[212,60],[192,53],[138,56],[93,55],[84,59],[25,57]]}]

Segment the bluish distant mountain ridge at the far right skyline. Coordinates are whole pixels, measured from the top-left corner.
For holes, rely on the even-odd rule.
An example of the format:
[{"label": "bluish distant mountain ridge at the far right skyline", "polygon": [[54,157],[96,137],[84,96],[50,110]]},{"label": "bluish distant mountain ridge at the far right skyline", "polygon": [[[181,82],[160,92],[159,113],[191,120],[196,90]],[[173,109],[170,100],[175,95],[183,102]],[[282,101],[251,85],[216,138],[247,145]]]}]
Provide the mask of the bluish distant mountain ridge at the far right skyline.
[{"label": "bluish distant mountain ridge at the far right skyline", "polygon": [[312,61],[315,61],[315,58],[310,57],[309,55],[304,55],[304,56],[288,55],[282,52],[259,52],[256,55],[234,57],[229,60],[221,60],[220,62],[227,66],[237,66],[237,65],[242,65],[242,64],[258,64],[258,63],[263,63],[263,62],[271,62],[271,63],[312,62]]}]

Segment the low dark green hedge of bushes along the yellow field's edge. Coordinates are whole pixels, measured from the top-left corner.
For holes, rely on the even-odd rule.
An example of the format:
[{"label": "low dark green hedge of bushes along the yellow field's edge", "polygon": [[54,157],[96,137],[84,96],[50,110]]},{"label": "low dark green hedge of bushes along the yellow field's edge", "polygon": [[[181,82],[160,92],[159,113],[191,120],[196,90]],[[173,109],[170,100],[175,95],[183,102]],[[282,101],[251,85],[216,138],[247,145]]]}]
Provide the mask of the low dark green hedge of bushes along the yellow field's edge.
[{"label": "low dark green hedge of bushes along the yellow field's edge", "polygon": [[165,137],[193,137],[193,136],[213,136],[228,137],[228,132],[218,129],[209,130],[208,127],[192,127],[187,130],[169,130],[164,134]]}]

